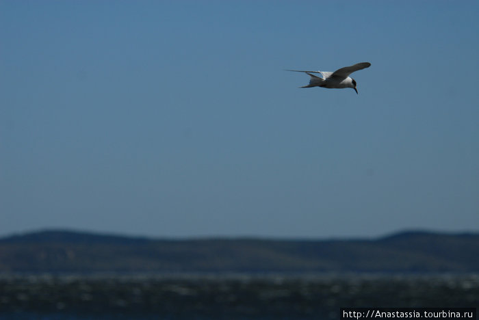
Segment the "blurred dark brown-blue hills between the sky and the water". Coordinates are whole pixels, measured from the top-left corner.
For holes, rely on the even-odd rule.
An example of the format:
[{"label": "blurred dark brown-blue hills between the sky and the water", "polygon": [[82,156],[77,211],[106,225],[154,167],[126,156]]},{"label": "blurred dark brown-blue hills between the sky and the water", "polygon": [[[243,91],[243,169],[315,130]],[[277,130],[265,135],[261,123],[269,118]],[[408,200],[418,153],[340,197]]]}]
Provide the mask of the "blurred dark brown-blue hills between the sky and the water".
[{"label": "blurred dark brown-blue hills between the sky and the water", "polygon": [[0,272],[478,272],[479,234],[165,240],[47,230],[0,239]]}]

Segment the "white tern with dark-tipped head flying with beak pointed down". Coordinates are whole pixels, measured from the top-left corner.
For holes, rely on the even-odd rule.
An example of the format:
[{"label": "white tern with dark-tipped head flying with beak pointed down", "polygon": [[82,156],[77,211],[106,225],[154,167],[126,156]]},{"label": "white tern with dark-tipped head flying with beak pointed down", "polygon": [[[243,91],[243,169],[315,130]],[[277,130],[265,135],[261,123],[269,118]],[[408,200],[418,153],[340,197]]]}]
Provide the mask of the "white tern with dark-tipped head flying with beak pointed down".
[{"label": "white tern with dark-tipped head flying with beak pointed down", "polygon": [[[309,85],[305,85],[300,88],[312,88],[312,87],[321,87],[329,89],[343,89],[343,88],[353,88],[356,93],[356,80],[349,77],[349,75],[357,70],[362,70],[364,68],[369,68],[371,64],[369,62],[361,62],[359,64],[354,64],[353,66],[344,67],[337,69],[335,72],[329,71],[305,71],[305,70],[287,70],[295,72],[306,72],[309,77]],[[319,73],[322,75],[318,77],[316,75],[311,75],[311,73]]]}]

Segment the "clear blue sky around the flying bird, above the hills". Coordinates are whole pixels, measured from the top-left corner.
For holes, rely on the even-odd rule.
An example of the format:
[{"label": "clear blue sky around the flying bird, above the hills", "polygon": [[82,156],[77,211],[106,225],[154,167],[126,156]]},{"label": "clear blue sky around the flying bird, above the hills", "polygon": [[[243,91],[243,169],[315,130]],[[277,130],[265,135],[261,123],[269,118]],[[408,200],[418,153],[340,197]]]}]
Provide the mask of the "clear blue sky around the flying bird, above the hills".
[{"label": "clear blue sky around the flying bird, above the hills", "polygon": [[[479,231],[479,1],[0,1],[0,235]],[[352,89],[298,89],[357,62]]]}]

